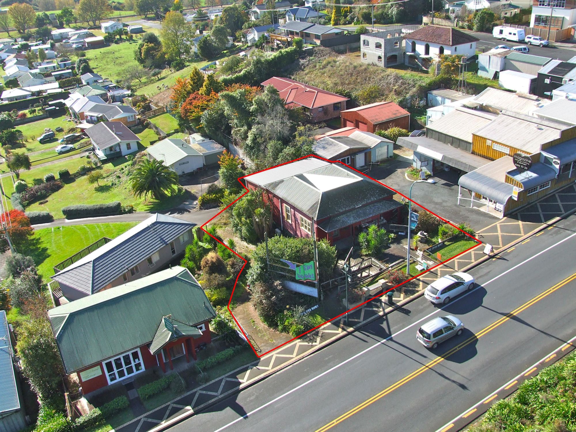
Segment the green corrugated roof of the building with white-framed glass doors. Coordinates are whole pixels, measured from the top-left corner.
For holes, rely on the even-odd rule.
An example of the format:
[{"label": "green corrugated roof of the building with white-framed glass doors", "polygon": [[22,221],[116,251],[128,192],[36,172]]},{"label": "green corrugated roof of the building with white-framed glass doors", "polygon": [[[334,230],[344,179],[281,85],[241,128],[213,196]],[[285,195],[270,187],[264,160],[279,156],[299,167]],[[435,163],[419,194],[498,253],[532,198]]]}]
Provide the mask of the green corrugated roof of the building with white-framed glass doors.
[{"label": "green corrugated roof of the building with white-framed glass doors", "polygon": [[150,343],[162,317],[196,326],[216,316],[202,287],[173,267],[48,311],[67,373]]}]

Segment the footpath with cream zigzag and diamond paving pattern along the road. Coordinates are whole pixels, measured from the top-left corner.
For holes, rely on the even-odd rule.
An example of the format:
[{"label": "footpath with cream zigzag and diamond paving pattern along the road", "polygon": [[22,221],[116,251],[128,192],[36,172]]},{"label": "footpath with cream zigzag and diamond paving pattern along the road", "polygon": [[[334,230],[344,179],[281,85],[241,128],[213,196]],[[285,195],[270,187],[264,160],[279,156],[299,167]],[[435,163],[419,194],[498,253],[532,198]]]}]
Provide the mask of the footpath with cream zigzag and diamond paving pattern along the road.
[{"label": "footpath with cream zigzag and diamond paving pattern along the road", "polygon": [[[554,224],[576,210],[576,185],[571,184],[554,195],[547,196],[526,207],[524,210],[503,218],[498,222],[480,230],[476,237],[482,240],[471,251],[464,253],[426,272],[416,280],[420,284],[418,293],[403,297],[402,290],[396,290],[393,305],[385,303],[383,297],[374,298],[361,308],[341,317],[302,338],[278,348],[272,353],[249,365],[238,367],[232,372],[216,378],[207,384],[200,385],[177,397],[155,410],[146,412],[116,428],[120,432],[157,432],[168,429],[175,423],[202,411],[225,397],[241,391],[247,386],[264,380],[271,374],[291,365],[294,362],[313,354],[326,344],[335,342],[356,331],[363,325],[376,320],[395,310],[403,310],[403,306],[422,296],[422,290],[431,281],[453,271],[467,271],[490,259],[498,259],[505,251],[513,250],[517,244],[524,244],[532,236],[539,236],[545,229],[554,228]],[[491,244],[493,253],[484,255],[485,244]]]}]

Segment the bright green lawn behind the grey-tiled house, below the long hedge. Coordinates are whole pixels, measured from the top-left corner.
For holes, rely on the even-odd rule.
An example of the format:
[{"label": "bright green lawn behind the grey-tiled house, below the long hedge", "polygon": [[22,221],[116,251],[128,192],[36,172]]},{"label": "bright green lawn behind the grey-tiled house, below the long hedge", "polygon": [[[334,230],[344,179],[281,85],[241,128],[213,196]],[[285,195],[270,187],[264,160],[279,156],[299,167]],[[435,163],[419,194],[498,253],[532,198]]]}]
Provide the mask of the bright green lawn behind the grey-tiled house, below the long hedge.
[{"label": "bright green lawn behind the grey-tiled house, below the long hedge", "polygon": [[32,236],[33,248],[22,251],[33,257],[44,282],[50,282],[54,267],[102,237],[114,238],[138,222],[89,223],[88,225],[60,226],[36,229]]}]

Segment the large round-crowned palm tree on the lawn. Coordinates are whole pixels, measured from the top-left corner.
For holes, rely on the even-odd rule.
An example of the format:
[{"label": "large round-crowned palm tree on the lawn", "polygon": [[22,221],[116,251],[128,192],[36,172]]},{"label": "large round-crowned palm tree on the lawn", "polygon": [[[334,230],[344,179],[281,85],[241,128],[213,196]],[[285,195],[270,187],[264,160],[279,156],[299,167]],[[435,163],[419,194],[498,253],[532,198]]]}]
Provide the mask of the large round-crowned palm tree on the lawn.
[{"label": "large round-crowned palm tree on the lawn", "polygon": [[178,184],[178,175],[160,161],[144,159],[134,169],[130,180],[132,194],[138,198],[144,195],[144,199],[150,194],[154,199],[161,201],[172,195]]}]

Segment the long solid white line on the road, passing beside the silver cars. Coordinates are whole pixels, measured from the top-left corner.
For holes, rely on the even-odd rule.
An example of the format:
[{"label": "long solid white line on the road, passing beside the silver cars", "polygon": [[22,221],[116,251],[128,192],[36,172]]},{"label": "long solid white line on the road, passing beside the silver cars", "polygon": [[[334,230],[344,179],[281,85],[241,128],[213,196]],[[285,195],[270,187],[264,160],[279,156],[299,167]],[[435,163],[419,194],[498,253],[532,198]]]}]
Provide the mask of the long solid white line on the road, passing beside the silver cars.
[{"label": "long solid white line on the road, passing beside the silver cars", "polygon": [[[552,246],[544,249],[543,251],[537,253],[536,255],[532,255],[531,257],[529,257],[528,259],[524,260],[524,261],[521,262],[520,264],[516,264],[516,266],[514,266],[514,267],[512,267],[512,268],[509,268],[508,270],[506,270],[505,272],[499,274],[498,276],[494,276],[494,278],[490,279],[490,281],[485,282],[485,283],[483,283],[483,284],[480,285],[480,286],[483,286],[483,287],[484,287],[484,286],[488,285],[489,283],[492,283],[492,282],[496,281],[497,279],[501,278],[503,275],[505,275],[505,274],[513,271],[514,269],[516,269],[516,268],[518,268],[518,267],[520,267],[520,266],[522,266],[522,265],[524,265],[524,264],[526,264],[526,263],[528,263],[528,262],[530,262],[530,261],[532,261],[532,260],[535,259],[537,256],[540,256],[540,255],[542,255],[543,253],[550,251],[550,249],[555,248],[556,246],[562,244],[562,243],[563,243],[564,241],[566,241],[566,240],[570,240],[570,238],[572,238],[572,237],[574,237],[574,236],[576,236],[576,233],[571,234],[570,236],[564,238],[563,240],[560,240],[559,242],[556,242],[556,243],[553,244]],[[458,298],[457,298],[456,300],[454,300],[450,305],[454,304],[454,303],[457,302],[457,301],[462,300],[463,298],[467,297],[469,294],[472,294],[472,293],[473,293],[474,291],[476,291],[477,289],[478,289],[478,287],[476,287],[476,288],[473,289],[472,291],[468,291],[468,293],[462,295],[461,297],[458,297]],[[323,377],[324,375],[332,372],[333,370],[338,369],[340,366],[346,365],[346,363],[354,360],[354,359],[357,358],[357,357],[360,357],[361,355],[367,353],[368,351],[372,350],[373,348],[376,348],[377,346],[380,346],[382,343],[386,342],[387,340],[392,339],[394,336],[397,336],[397,335],[399,335],[400,333],[403,333],[403,332],[406,331],[407,329],[414,327],[416,324],[420,323],[421,321],[429,319],[431,316],[433,316],[434,314],[440,312],[440,310],[442,310],[442,309],[444,309],[444,308],[440,308],[440,309],[434,310],[434,312],[432,312],[432,313],[430,313],[430,314],[427,314],[425,317],[419,319],[419,320],[416,321],[415,323],[412,323],[412,324],[408,325],[407,327],[404,327],[403,329],[397,331],[395,334],[393,334],[393,335],[391,335],[391,336],[388,336],[388,338],[382,339],[380,342],[377,342],[377,343],[374,344],[373,346],[366,348],[365,350],[361,351],[360,353],[354,355],[353,357],[350,357],[350,358],[344,360],[342,363],[339,363],[339,364],[336,365],[336,366],[331,367],[330,369],[328,369],[328,370],[326,370],[325,372],[323,372],[323,373],[315,376],[314,378],[310,378],[310,380],[308,380],[308,381],[306,381],[306,382],[303,382],[302,384],[298,385],[297,387],[294,387],[294,388],[291,389],[290,391],[287,391],[286,393],[283,393],[283,395],[280,395],[280,396],[276,397],[275,399],[272,399],[271,401],[269,401],[269,402],[265,403],[264,405],[256,408],[255,410],[252,410],[252,411],[248,412],[247,414],[244,414],[244,415],[242,415],[241,417],[238,417],[236,420],[233,420],[232,422],[228,423],[228,425],[222,426],[221,428],[215,430],[214,432],[220,432],[221,430],[224,430],[224,429],[226,429],[226,428],[229,427],[229,426],[235,425],[237,422],[240,422],[240,420],[247,419],[247,418],[248,418],[249,416],[251,416],[252,414],[255,414],[256,412],[262,410],[263,408],[266,408],[267,406],[270,406],[271,404],[275,403],[276,401],[278,401],[278,400],[280,400],[280,399],[283,399],[283,397],[286,397],[286,396],[290,395],[291,393],[294,393],[295,391],[297,391],[297,390],[301,389],[302,387],[310,384],[311,382],[316,381],[318,378],[321,378],[321,377]],[[550,355],[550,354],[548,354],[548,355]],[[546,356],[546,357],[548,357],[548,356]],[[544,358],[545,358],[545,357],[544,357]],[[183,416],[186,415],[186,414],[187,414],[187,413],[183,414]],[[464,412],[464,414],[465,414],[465,412]],[[175,419],[175,420],[176,420],[176,419]],[[448,424],[449,424],[449,423],[448,423]]]}]

